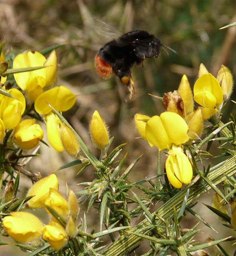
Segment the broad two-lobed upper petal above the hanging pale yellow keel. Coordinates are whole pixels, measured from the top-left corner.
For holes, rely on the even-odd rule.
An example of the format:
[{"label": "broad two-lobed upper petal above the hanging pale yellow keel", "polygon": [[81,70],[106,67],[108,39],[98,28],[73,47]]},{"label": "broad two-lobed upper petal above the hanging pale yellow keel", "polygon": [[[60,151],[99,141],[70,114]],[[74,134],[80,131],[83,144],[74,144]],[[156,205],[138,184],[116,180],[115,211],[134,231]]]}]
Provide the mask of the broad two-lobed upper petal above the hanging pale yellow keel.
[{"label": "broad two-lobed upper petal above the hanging pale yellow keel", "polygon": [[170,149],[172,144],[184,144],[189,140],[187,132],[188,125],[174,112],[152,116],[146,123],[146,140],[159,150]]}]

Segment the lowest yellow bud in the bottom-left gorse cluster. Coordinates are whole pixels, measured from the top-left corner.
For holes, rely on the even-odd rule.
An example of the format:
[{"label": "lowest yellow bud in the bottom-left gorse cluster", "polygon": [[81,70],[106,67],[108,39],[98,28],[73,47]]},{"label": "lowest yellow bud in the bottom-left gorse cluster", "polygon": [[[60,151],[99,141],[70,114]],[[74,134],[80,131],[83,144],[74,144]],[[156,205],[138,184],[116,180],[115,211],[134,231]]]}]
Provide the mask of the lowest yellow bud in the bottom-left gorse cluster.
[{"label": "lowest yellow bud in the bottom-left gorse cluster", "polygon": [[68,236],[64,228],[56,221],[52,220],[42,228],[43,239],[47,240],[52,248],[60,250],[67,244]]}]

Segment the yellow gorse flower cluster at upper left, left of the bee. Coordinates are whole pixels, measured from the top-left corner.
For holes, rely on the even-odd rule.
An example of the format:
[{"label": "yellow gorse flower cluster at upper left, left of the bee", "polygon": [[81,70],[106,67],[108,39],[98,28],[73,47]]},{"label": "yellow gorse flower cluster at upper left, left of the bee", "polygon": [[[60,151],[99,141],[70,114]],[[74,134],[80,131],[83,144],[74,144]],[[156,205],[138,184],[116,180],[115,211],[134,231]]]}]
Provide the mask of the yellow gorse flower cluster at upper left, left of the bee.
[{"label": "yellow gorse flower cluster at upper left, left of the bee", "polygon": [[[4,75],[6,64],[3,52],[0,58],[0,75]],[[4,68],[6,66],[6,68]],[[30,71],[24,71],[30,68]],[[6,90],[2,86],[0,94],[0,141],[5,136],[5,130],[15,129],[12,140],[23,149],[34,148],[39,140],[43,139],[43,131],[35,120],[26,119],[20,122],[24,111],[34,109],[43,115],[47,124],[47,136],[52,147],[57,151],[64,149],[60,130],[62,122],[52,112],[55,108],[63,112],[72,108],[75,103],[74,94],[64,86],[56,86],[57,56],[53,50],[46,59],[40,52],[29,51],[18,54],[13,61],[14,78],[19,88],[26,93],[25,96],[16,88]],[[21,72],[18,72],[20,70]],[[6,77],[1,77],[2,85],[7,83]],[[6,92],[4,94],[4,92]]]}]

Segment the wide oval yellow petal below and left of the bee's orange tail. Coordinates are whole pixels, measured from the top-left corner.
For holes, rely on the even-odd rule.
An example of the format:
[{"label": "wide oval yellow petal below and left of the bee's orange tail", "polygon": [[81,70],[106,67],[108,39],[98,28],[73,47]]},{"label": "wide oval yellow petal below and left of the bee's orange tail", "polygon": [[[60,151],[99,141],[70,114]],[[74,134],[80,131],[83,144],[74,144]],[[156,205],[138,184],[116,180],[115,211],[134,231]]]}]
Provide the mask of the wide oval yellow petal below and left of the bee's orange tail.
[{"label": "wide oval yellow petal below and left of the bee's orange tail", "polygon": [[76,98],[74,94],[65,86],[56,86],[43,92],[35,101],[34,108],[38,114],[49,114],[52,108],[57,111],[67,111],[74,106]]}]

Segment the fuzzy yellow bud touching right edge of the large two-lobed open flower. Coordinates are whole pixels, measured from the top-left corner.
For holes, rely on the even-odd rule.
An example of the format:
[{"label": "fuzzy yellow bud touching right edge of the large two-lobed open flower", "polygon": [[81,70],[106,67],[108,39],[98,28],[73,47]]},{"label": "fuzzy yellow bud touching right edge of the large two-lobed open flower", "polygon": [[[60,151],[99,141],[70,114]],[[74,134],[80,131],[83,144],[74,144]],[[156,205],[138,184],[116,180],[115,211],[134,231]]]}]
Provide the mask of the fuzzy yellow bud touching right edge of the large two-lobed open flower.
[{"label": "fuzzy yellow bud touching right edge of the large two-lobed open flower", "polygon": [[199,139],[202,135],[203,130],[203,116],[202,116],[202,108],[198,108],[189,124],[188,124],[188,137],[192,140]]}]

